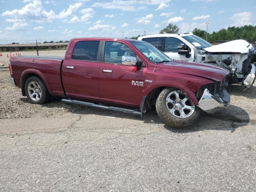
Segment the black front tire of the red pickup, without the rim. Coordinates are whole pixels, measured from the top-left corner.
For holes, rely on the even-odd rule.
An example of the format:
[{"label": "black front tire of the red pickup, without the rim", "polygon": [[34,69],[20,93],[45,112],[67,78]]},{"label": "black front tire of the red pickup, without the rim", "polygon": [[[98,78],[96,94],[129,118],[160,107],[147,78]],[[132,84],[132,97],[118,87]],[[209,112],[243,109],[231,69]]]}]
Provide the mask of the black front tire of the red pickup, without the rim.
[{"label": "black front tire of the red pickup, without the rim", "polygon": [[168,94],[176,88],[165,88],[156,100],[156,112],[161,121],[166,125],[174,128],[185,128],[191,126],[199,118],[201,110],[196,106],[194,113],[187,118],[178,118],[171,114],[166,106],[166,98]]}]

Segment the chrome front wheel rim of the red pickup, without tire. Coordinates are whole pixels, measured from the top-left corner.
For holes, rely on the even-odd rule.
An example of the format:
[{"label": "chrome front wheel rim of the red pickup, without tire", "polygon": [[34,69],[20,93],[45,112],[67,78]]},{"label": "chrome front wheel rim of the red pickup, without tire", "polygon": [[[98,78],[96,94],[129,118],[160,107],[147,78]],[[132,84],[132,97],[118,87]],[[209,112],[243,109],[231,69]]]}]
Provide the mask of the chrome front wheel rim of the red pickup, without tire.
[{"label": "chrome front wheel rim of the red pickup, without tire", "polygon": [[190,97],[180,90],[172,91],[166,97],[166,107],[178,118],[188,118],[195,111],[195,105]]}]

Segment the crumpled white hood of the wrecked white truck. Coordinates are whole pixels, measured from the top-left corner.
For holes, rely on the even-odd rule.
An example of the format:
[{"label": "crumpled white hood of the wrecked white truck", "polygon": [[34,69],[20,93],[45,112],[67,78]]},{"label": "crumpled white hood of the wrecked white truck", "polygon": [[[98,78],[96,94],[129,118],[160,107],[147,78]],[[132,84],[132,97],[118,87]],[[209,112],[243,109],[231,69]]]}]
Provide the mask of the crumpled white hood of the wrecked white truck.
[{"label": "crumpled white hood of the wrecked white truck", "polygon": [[234,40],[226,43],[210,46],[204,48],[203,50],[210,53],[220,53],[220,52],[232,52],[246,54],[254,50],[254,47],[245,40]]}]

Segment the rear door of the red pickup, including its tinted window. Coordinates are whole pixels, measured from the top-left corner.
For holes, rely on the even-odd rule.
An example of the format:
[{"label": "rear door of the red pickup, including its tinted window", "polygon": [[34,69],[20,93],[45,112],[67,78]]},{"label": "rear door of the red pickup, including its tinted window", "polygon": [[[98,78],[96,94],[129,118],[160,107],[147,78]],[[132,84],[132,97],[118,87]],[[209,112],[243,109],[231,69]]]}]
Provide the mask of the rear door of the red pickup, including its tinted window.
[{"label": "rear door of the red pickup, including its tinted window", "polygon": [[99,98],[100,41],[76,42],[72,58],[62,66],[62,80],[68,97]]}]

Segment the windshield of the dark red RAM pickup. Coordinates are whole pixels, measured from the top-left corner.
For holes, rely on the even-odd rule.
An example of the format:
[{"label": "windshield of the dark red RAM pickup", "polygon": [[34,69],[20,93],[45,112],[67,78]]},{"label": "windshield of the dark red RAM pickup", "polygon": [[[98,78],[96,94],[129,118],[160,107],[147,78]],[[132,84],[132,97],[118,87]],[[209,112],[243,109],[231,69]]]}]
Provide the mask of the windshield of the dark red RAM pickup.
[{"label": "windshield of the dark red RAM pickup", "polygon": [[166,54],[155,48],[149,43],[146,42],[132,42],[132,44],[142,52],[150,61],[154,63],[164,63],[169,62],[172,59],[169,58]]}]

